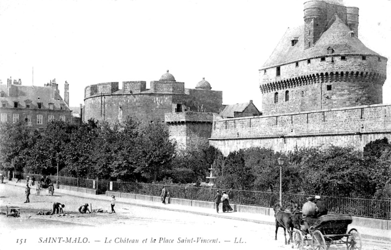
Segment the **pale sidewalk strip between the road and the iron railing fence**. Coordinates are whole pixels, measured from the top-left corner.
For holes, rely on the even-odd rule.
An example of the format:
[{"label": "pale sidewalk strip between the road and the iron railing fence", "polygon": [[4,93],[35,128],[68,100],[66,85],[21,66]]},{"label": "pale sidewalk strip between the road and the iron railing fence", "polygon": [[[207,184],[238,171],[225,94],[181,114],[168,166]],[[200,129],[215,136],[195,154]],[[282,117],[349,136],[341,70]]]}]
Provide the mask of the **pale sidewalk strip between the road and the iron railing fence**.
[{"label": "pale sidewalk strip between the road and the iron railing fence", "polygon": [[[15,183],[11,181],[6,182],[5,184],[13,185],[17,187],[25,187],[24,183]],[[64,189],[55,189],[55,193],[65,193],[63,192],[63,190]],[[32,190],[32,194],[35,194],[35,190]],[[105,194],[93,195],[87,193],[72,192],[69,190],[66,190],[66,194],[77,196],[77,197],[86,197],[88,199],[93,199],[93,200],[107,201],[109,199],[109,197],[106,196]],[[219,211],[219,213],[217,213],[216,209],[214,208],[199,208],[199,207],[191,207],[191,206],[183,206],[183,205],[163,204],[161,202],[135,200],[135,199],[120,198],[120,197],[116,197],[116,202],[122,204],[141,206],[141,207],[158,208],[158,209],[165,209],[165,210],[178,211],[178,212],[188,212],[193,214],[214,216],[219,218],[248,221],[248,222],[268,224],[273,226],[275,225],[275,218],[273,216],[262,215],[262,214],[244,213],[244,212],[223,213],[222,211]],[[348,229],[350,228],[352,227],[348,227]],[[372,239],[372,240],[391,241],[391,230],[369,229],[364,227],[354,227],[354,228],[356,228],[361,233],[361,235],[365,238]]]}]

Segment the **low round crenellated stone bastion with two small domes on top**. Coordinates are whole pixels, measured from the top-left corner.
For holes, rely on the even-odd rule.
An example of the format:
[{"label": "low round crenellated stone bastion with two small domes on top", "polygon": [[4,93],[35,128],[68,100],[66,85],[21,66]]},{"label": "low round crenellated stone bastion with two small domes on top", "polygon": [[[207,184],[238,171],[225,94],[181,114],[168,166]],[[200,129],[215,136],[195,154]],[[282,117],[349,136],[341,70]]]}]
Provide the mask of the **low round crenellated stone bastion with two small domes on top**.
[{"label": "low round crenellated stone bastion with two small domes on top", "polygon": [[145,81],[122,82],[122,89],[118,88],[118,83],[87,86],[84,121],[93,118],[121,122],[132,117],[146,125],[164,122],[165,113],[218,113],[222,108],[222,92],[211,90],[210,83],[205,79],[197,83],[195,89],[189,89],[185,88],[185,83],[176,82],[167,70],[159,81],[152,81],[150,86],[147,89]]}]

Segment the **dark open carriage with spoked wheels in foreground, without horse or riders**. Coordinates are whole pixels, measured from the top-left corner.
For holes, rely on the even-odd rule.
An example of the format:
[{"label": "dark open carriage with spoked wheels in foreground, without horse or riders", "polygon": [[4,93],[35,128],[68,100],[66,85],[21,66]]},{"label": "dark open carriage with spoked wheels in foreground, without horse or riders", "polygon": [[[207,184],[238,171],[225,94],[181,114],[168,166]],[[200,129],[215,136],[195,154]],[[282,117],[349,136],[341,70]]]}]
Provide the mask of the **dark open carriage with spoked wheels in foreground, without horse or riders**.
[{"label": "dark open carriage with spoked wheels in foreground, without horse or riders", "polygon": [[[305,220],[305,219],[304,219]],[[314,250],[327,250],[331,245],[346,244],[348,250],[361,250],[361,236],[356,229],[348,231],[352,217],[346,214],[328,214],[308,222],[309,229],[296,229],[293,243],[302,250],[304,245],[312,245]]]}]

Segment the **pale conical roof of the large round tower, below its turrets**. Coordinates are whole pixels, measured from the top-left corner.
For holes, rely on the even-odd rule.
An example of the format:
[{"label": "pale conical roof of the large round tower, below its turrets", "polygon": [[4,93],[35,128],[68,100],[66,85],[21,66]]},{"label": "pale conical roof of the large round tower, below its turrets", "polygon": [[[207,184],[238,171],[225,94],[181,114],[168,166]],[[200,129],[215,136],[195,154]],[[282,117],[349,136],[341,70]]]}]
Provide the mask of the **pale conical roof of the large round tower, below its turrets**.
[{"label": "pale conical roof of the large round tower, below its turrets", "polygon": [[[357,36],[352,37],[352,31],[341,21],[337,14],[332,20],[334,20],[331,21],[332,24],[329,25],[329,28],[315,45],[307,49],[304,49],[304,25],[288,28],[262,68],[327,55],[329,47],[334,49],[334,54],[379,55],[367,48]],[[294,37],[299,38],[299,41],[292,46],[291,41]]]}]

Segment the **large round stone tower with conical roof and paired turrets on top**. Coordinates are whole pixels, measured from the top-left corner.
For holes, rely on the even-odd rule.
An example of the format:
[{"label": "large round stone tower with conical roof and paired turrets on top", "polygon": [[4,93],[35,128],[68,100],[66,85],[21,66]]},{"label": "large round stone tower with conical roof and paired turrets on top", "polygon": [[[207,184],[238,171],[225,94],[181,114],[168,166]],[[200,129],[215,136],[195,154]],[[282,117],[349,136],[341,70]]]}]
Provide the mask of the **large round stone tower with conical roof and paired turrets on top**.
[{"label": "large round stone tower with conical roof and paired turrets on top", "polygon": [[263,114],[381,104],[386,64],[358,39],[358,8],[307,1],[259,71]]}]

